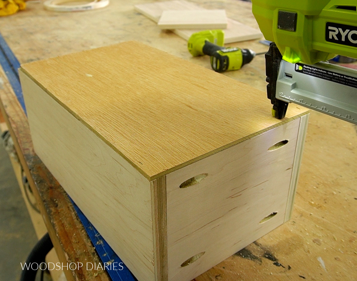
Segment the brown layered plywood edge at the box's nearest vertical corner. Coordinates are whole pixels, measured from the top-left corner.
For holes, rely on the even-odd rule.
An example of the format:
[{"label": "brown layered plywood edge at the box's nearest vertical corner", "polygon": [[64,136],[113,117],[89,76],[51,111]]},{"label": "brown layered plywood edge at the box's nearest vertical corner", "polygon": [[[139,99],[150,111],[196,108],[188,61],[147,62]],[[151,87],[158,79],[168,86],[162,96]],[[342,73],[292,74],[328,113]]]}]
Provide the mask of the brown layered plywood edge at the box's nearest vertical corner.
[{"label": "brown layered plywood edge at the box's nearest vertical corner", "polygon": [[152,180],[150,185],[152,230],[154,234],[155,281],[167,281],[166,176]]}]

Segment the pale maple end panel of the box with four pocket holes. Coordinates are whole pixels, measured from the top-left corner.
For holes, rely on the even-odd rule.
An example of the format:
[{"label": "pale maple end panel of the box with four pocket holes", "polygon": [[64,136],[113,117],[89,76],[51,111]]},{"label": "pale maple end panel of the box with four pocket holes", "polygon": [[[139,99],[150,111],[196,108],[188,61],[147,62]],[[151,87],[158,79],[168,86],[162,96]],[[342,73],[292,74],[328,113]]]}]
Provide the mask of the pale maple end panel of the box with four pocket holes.
[{"label": "pale maple end panel of the box with four pocket holes", "polygon": [[[192,280],[284,223],[299,124],[295,119],[166,176],[170,281]],[[195,177],[197,184],[182,188]]]}]

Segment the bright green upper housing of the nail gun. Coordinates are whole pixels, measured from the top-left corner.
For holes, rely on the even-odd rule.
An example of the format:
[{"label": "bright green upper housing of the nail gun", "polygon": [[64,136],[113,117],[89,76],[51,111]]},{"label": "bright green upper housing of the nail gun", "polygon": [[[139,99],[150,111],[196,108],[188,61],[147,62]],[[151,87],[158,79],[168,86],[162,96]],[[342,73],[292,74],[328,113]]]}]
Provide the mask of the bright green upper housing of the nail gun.
[{"label": "bright green upper housing of the nail gun", "polygon": [[336,54],[357,58],[356,5],[356,0],[252,0],[252,11],[283,60],[313,64]]}]

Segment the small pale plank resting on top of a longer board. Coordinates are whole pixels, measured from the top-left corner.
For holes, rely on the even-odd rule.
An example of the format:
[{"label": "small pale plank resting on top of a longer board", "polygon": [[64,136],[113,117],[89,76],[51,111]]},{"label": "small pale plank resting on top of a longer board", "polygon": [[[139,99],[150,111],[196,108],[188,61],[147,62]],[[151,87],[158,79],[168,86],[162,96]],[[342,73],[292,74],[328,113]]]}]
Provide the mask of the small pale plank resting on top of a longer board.
[{"label": "small pale plank resting on top of a longer board", "polygon": [[157,25],[161,29],[225,29],[225,10],[165,10]]}]

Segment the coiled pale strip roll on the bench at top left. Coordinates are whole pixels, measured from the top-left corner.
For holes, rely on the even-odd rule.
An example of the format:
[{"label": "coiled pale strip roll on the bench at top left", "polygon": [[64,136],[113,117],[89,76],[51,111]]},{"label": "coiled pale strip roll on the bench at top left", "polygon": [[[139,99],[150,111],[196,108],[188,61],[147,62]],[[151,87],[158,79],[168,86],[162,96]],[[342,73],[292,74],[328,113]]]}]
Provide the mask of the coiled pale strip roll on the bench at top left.
[{"label": "coiled pale strip roll on the bench at top left", "polygon": [[47,0],[44,2],[46,10],[56,12],[72,12],[72,11],[86,11],[105,7],[109,4],[109,0],[94,0],[82,5],[64,5],[69,2],[76,2],[77,0]]}]

